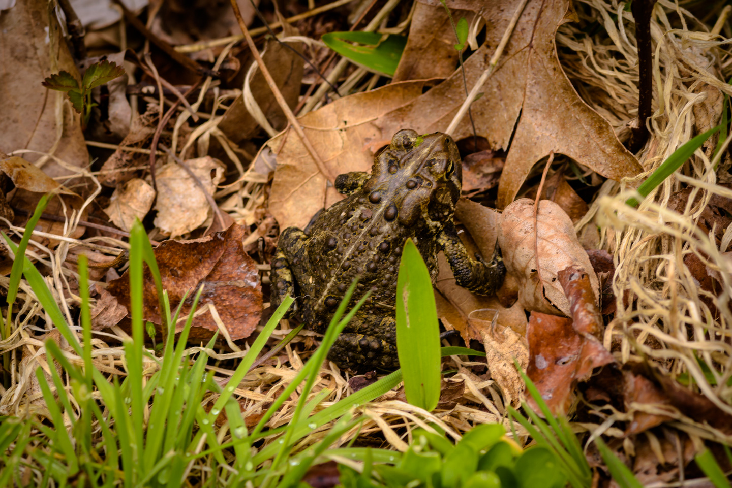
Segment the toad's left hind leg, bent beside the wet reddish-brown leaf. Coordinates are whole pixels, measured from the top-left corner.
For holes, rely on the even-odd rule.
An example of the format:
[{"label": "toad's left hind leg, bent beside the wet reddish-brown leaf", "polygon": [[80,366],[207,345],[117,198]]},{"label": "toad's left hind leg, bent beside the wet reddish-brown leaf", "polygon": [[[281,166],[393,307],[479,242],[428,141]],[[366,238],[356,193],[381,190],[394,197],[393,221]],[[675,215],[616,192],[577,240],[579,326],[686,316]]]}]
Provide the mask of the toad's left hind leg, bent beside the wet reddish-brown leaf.
[{"label": "toad's left hind leg, bent beside the wet reddish-brown leaf", "polygon": [[[294,269],[305,266],[307,263],[307,249],[305,243],[307,235],[296,227],[288,227],[280,234],[280,241],[277,242],[277,251],[272,260],[272,271],[269,272],[269,282],[272,287],[272,309],[277,308],[285,296],[296,298],[296,274]],[[297,310],[297,304],[290,307],[287,315],[292,315]]]}]

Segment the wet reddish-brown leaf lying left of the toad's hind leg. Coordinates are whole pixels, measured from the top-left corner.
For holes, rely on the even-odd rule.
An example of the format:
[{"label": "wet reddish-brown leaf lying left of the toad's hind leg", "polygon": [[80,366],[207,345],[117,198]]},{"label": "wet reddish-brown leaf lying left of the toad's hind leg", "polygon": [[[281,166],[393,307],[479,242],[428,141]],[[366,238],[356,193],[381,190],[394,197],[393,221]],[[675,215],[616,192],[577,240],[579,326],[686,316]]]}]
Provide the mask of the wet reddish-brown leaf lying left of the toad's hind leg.
[{"label": "wet reddish-brown leaf lying left of the toad's hind leg", "polygon": [[[165,241],[154,249],[163,289],[168,290],[171,308],[175,309],[184,293],[190,292],[182,308],[184,318],[190,312],[195,291],[205,285],[198,309],[213,304],[231,339],[248,337],[259,323],[262,291],[255,263],[242,246],[246,229],[232,225],[224,232],[192,241]],[[145,268],[145,320],[160,324],[157,290],[150,270]],[[130,309],[130,277],[109,283],[109,293]],[[184,322],[176,324],[181,331]],[[210,312],[198,315],[190,331],[191,342],[210,339],[218,329]],[[160,329],[159,329],[160,330]],[[164,333],[164,331],[163,331]]]}]

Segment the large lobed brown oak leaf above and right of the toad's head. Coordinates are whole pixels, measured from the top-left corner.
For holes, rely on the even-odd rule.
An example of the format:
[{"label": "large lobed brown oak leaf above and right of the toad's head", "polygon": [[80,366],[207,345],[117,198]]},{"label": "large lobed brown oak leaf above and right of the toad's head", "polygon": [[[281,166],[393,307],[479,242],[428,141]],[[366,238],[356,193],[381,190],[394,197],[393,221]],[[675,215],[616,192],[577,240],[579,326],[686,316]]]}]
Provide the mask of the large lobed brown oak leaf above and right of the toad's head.
[{"label": "large lobed brown oak leaf above and right of the toad's head", "polygon": [[[479,7],[487,16],[485,43],[465,62],[468,86],[473,86],[488,68],[490,56],[519,3],[447,2],[451,9]],[[531,167],[550,151],[566,154],[610,179],[635,176],[643,170],[616,138],[608,121],[580,99],[561,70],[554,37],[556,29],[574,17],[566,0],[529,1],[496,71],[482,87],[482,92],[490,96],[471,105],[477,135],[487,138],[493,149],[508,149],[513,136],[498,187],[499,208],[511,203]],[[465,99],[463,90],[462,72],[456,70],[444,83],[375,123],[385,132],[403,120],[417,132],[444,130]],[[460,140],[471,132],[470,121],[464,117],[452,136]]]}]

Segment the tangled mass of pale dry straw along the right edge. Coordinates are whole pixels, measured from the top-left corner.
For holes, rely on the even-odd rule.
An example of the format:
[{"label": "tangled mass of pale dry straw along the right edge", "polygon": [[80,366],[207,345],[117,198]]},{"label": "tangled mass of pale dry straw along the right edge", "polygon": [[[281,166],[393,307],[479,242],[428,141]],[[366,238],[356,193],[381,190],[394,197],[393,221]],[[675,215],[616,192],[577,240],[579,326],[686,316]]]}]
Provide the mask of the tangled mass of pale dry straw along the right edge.
[{"label": "tangled mass of pale dry straw along the right edge", "polygon": [[[564,55],[560,57],[584,100],[610,120],[624,138],[638,106],[632,15],[624,12],[624,2],[588,0],[578,7],[586,25],[597,21],[610,36],[602,33],[592,38],[576,24],[566,24],[559,30],[557,42],[560,50],[566,47],[574,52],[561,50]],[[725,156],[717,173],[716,161],[710,160],[716,146],[713,138],[651,192],[638,209],[624,203],[673,151],[720,123],[723,94],[732,94],[732,86],[724,81],[729,76],[730,56],[728,41],[717,35],[718,31],[715,34],[709,30],[678,4],[658,2],[651,18],[654,114],[649,120],[649,141],[639,154],[646,173],[619,184],[607,181],[577,228],[599,225],[600,246],[614,256],[613,291],[618,310],[606,331],[605,345],[619,344],[621,361],[646,358],[671,375],[687,373],[694,380],[695,391],[732,413],[732,388],[726,386],[732,375],[732,261],[722,256],[732,239],[732,228],[725,231],[722,245],[717,246],[714,236],[697,226],[712,195],[732,197],[730,189],[718,184],[731,179],[725,170],[729,163],[726,151],[720,151]],[[692,188],[686,208],[682,212],[668,209],[673,193],[683,187]],[[701,199],[692,204],[696,195]],[[719,296],[699,288],[684,265],[684,257],[692,253],[706,265],[709,274],[719,277]],[[627,291],[637,297],[635,303],[623,300]],[[716,310],[702,298],[713,301]],[[697,358],[710,366],[713,380],[704,374]],[[668,411],[664,413],[668,415]],[[725,440],[721,432],[709,426],[695,424],[677,412],[671,416],[687,432]],[[607,427],[613,417],[621,419],[613,413]]]}]

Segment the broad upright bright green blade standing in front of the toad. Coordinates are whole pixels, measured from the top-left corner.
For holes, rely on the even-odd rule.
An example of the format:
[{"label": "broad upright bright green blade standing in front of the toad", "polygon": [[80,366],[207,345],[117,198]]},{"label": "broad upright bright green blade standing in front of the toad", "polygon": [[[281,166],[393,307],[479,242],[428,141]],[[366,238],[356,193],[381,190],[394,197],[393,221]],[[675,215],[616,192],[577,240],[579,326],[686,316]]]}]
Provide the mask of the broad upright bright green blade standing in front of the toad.
[{"label": "broad upright bright green blade standing in front of the toad", "polygon": [[397,353],[407,401],[427,411],[440,399],[440,329],[430,271],[411,239],[397,277]]}]

